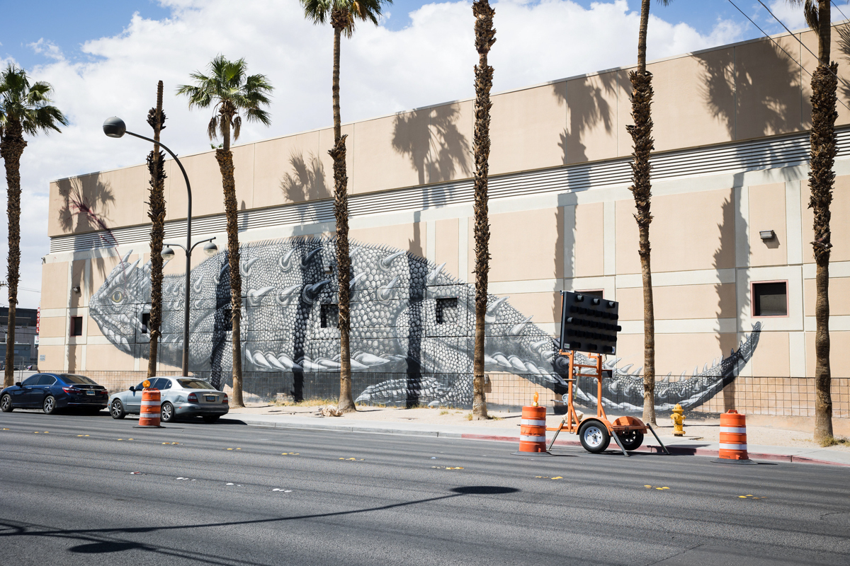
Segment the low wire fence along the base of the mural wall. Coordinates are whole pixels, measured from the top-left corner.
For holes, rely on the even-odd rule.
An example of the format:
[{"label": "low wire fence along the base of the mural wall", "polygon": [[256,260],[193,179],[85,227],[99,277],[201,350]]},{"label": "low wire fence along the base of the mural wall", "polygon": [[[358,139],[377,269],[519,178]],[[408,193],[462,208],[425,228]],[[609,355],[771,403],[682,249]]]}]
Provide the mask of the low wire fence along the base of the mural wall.
[{"label": "low wire fence along the base of the mural wall", "polygon": [[[127,389],[144,381],[145,372],[81,372],[110,390]],[[159,372],[161,377],[181,373]],[[192,372],[219,389],[229,391],[230,373]],[[339,396],[339,373],[243,373],[245,401],[276,402],[336,400]],[[605,378],[603,406],[611,414],[639,414],[643,407],[641,378],[629,380]],[[455,406],[471,408],[472,375],[469,373],[353,373],[354,399],[362,405],[381,406]],[[544,381],[538,375],[489,373],[484,386],[488,406],[492,409],[519,410],[529,406],[537,393],[539,402],[553,412],[565,410],[564,384]],[[597,382],[581,376],[575,382],[575,405],[584,412],[596,412]],[[751,415],[813,417],[814,378],[772,378],[739,376],[714,383],[705,378],[656,378],[655,406],[660,414],[670,412],[681,403],[688,412],[706,416],[736,409]],[[832,378],[833,417],[850,418],[850,378]]]}]

